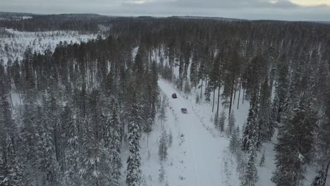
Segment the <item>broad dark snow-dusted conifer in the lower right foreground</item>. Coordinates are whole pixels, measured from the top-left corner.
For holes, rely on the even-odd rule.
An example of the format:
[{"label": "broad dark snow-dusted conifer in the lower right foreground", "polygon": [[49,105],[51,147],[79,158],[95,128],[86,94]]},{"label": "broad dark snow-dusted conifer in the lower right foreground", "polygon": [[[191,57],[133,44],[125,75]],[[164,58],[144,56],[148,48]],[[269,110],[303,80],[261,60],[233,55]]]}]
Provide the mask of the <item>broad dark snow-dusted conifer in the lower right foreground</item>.
[{"label": "broad dark snow-dusted conifer in the lower right foreground", "polygon": [[298,106],[288,114],[279,130],[276,150],[276,170],[271,180],[276,185],[299,185],[303,178],[305,163],[310,162],[317,118],[310,105],[310,97],[302,94]]}]

